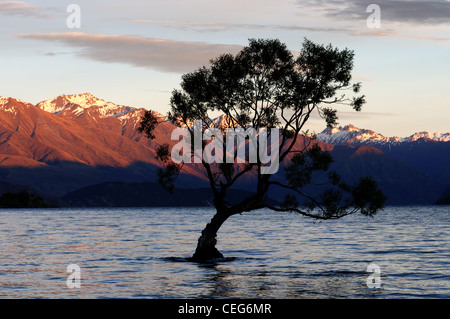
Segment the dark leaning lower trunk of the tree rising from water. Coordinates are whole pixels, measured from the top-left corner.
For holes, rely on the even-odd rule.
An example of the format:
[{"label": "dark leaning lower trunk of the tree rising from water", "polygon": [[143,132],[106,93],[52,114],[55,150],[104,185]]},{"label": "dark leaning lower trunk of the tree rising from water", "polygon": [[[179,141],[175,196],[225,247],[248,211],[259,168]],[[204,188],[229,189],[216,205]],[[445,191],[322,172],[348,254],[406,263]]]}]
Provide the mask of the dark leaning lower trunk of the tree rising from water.
[{"label": "dark leaning lower trunk of the tree rising from water", "polygon": [[217,258],[223,258],[223,255],[216,248],[217,231],[222,224],[230,217],[230,214],[223,210],[218,210],[211,221],[206,225],[202,231],[202,235],[198,239],[197,249],[192,256],[193,261],[205,262]]}]

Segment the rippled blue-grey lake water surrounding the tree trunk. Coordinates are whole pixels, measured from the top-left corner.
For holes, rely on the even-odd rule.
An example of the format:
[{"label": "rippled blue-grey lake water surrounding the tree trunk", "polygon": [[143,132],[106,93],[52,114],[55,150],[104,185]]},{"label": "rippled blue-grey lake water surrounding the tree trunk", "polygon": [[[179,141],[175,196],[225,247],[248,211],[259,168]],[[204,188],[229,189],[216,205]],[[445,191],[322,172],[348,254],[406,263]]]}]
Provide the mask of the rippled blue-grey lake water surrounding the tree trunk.
[{"label": "rippled blue-grey lake water surrounding the tree trunk", "polygon": [[[0,298],[450,298],[448,206],[324,222],[237,215],[218,236],[230,258],[187,261],[213,213],[0,210]],[[368,285],[371,263],[380,281]],[[80,267],[80,288],[67,286],[70,264]]]}]

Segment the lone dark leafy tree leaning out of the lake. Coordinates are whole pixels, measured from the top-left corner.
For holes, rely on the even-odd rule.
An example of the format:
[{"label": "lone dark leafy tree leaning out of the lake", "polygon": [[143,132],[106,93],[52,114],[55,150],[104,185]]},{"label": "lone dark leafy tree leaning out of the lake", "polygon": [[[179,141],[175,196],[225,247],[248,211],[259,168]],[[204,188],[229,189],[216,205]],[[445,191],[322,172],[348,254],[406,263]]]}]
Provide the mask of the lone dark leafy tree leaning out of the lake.
[{"label": "lone dark leafy tree leaning out of the lake", "polygon": [[[216,248],[217,232],[230,216],[243,212],[268,208],[328,220],[358,212],[373,216],[383,208],[385,196],[371,177],[361,178],[354,185],[346,184],[337,173],[328,172],[331,155],[321,150],[314,139],[301,135],[313,112],[318,112],[327,126],[333,126],[338,119],[334,105],[361,110],[364,96],[353,95],[359,93],[360,83],[350,83],[353,56],[353,51],[348,49],[339,50],[305,39],[298,56],[294,57],[279,40],[251,39],[238,54],[223,54],[211,60],[209,67],[182,76],[181,90],[172,93],[168,119],[185,128],[191,141],[199,129],[198,125],[195,128],[194,121],[202,121],[203,133],[214,125],[210,112],[223,114],[231,128],[252,127],[257,132],[264,129],[267,136],[274,134],[269,129],[277,128],[274,131],[278,132],[278,149],[271,145],[271,152],[277,154],[285,172],[284,182],[264,173],[267,162],[259,152],[256,160],[249,161],[246,157],[244,164],[237,160],[230,163],[225,160],[226,152],[217,151],[215,155],[223,156],[222,161],[211,163],[205,158],[198,161],[209,180],[216,214],[202,231],[193,260],[202,262],[223,257]],[[348,92],[351,97],[347,96]],[[154,129],[162,121],[148,111],[142,118],[140,131],[155,138]],[[225,149],[225,138],[214,135],[214,143],[223,143]],[[309,142],[300,143],[302,139]],[[201,151],[208,144],[201,142]],[[189,156],[194,158],[193,146],[192,150]],[[158,172],[159,182],[169,191],[183,165],[170,154],[167,144],[156,152],[164,163]],[[254,191],[237,203],[229,202],[229,189],[245,175],[252,175]],[[328,186],[313,196],[305,188],[313,184],[313,179],[316,182],[316,177],[325,179]],[[267,199],[269,189],[275,187],[286,191],[281,204]],[[301,203],[300,198],[304,199]]]}]

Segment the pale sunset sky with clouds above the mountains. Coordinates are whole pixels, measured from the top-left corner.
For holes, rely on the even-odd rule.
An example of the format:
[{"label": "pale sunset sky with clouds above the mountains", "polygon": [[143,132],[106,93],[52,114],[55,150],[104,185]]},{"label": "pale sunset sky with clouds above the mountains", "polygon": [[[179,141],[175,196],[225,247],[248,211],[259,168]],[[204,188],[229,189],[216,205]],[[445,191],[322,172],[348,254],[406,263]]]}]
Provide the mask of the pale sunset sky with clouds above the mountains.
[{"label": "pale sunset sky with clouds above the mountains", "polygon": [[[250,38],[353,50],[367,103],[339,107],[341,126],[450,132],[445,0],[0,0],[0,96],[36,104],[89,92],[165,114],[182,74]],[[325,126],[312,118],[307,128]]]}]

